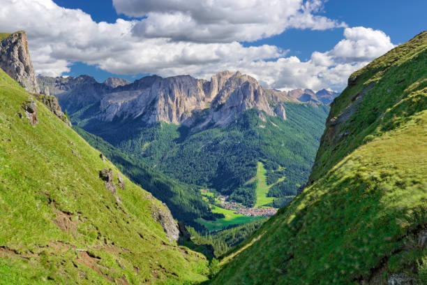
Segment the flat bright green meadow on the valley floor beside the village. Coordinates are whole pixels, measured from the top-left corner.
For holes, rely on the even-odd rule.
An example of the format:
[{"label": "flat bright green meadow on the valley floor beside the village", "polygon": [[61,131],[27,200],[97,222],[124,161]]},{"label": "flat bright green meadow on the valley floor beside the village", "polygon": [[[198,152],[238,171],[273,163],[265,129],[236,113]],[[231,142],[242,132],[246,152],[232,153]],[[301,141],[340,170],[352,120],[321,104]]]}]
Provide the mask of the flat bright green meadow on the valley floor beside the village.
[{"label": "flat bright green meadow on the valley floor beside the village", "polygon": [[206,226],[209,231],[218,231],[230,225],[246,224],[250,221],[262,219],[263,217],[248,217],[243,214],[234,214],[232,210],[226,210],[216,205],[212,205],[212,212],[224,214],[225,218],[216,219],[216,221],[207,221],[205,219],[197,219],[197,221]]}]

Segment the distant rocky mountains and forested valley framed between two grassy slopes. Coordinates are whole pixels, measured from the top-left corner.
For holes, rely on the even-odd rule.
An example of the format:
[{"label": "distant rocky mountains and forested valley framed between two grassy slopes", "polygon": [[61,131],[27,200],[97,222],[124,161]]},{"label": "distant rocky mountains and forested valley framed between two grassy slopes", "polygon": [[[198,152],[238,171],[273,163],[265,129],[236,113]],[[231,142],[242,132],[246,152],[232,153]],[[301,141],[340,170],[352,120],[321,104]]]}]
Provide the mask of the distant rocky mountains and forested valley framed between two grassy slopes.
[{"label": "distant rocky mountains and forested valley framed between two grassy slopes", "polygon": [[[188,75],[148,76],[114,89],[87,75],[38,77],[38,82],[57,94],[84,138],[103,152],[110,149],[107,156],[114,163],[122,165],[126,156],[144,168],[137,172],[134,168],[130,177],[165,201],[174,217],[198,231],[215,220],[221,224],[220,219],[227,219],[226,226],[252,220],[209,210],[199,189],[214,189],[247,208],[289,203],[308,179],[329,111],[329,105],[307,99],[306,94],[317,98],[315,92],[264,89],[239,72],[224,71],[210,81]],[[326,90],[320,94],[337,95]],[[129,171],[126,168],[123,171]],[[169,187],[180,202],[142,179],[149,168],[163,180],[181,185],[181,194],[174,190],[177,186]],[[263,171],[268,181],[280,181],[267,185]],[[256,181],[251,181],[253,177]]]}]

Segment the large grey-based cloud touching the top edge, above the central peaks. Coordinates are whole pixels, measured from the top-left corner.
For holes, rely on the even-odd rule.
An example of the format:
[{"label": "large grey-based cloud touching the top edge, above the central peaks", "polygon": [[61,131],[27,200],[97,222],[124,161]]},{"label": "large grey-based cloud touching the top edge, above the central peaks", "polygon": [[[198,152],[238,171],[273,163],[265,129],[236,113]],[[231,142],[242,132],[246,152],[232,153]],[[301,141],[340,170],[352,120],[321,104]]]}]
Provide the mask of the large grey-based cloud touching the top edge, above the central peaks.
[{"label": "large grey-based cloud touching the top edge, above the central peaks", "polygon": [[332,29],[345,23],[321,15],[320,0],[113,0],[118,13],[144,17],[135,36],[197,43],[255,41],[285,29]]}]

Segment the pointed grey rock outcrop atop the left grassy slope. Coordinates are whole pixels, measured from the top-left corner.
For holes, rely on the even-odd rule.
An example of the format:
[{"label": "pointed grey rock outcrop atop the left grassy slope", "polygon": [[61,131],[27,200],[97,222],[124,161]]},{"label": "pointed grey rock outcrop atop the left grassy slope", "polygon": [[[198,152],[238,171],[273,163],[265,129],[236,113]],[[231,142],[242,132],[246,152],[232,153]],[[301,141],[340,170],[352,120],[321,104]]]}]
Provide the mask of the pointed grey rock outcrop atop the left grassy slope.
[{"label": "pointed grey rock outcrop atop the left grassy slope", "polygon": [[24,31],[10,34],[0,42],[0,68],[28,92],[40,93]]}]

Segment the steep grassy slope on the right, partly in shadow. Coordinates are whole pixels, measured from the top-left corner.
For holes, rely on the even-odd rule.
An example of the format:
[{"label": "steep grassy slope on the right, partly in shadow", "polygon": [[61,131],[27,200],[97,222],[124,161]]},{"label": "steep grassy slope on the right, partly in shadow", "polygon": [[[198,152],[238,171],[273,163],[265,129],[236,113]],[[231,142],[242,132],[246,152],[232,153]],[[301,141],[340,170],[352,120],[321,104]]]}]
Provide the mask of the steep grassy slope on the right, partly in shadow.
[{"label": "steep grassy slope on the right, partly in shadow", "polygon": [[426,66],[424,33],[354,74],[331,117],[376,85],[341,126],[350,136],[337,143],[325,131],[314,183],[234,249],[213,284],[375,284],[394,273],[427,282],[418,243],[427,226]]}]

